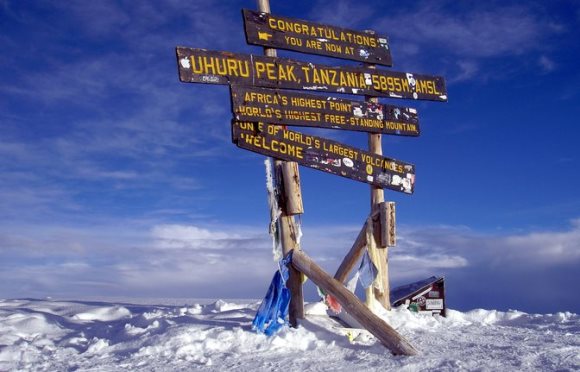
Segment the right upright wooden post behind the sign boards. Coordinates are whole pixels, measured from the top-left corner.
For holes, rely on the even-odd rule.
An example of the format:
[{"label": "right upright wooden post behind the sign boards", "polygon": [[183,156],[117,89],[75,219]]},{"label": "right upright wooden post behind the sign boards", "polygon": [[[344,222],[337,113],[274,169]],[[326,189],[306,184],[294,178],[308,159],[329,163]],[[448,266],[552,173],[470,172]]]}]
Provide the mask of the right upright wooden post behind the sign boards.
[{"label": "right upright wooden post behind the sign boards", "polygon": [[[374,69],[376,68],[375,65],[369,64],[367,65],[368,68]],[[378,103],[379,99],[376,97],[365,97],[365,101]],[[381,134],[377,133],[369,133],[369,150],[372,153],[382,155],[383,154],[383,145],[381,141]],[[376,187],[371,185],[371,211],[378,207],[378,204],[385,201],[385,192],[382,188]],[[377,239],[377,241],[381,242],[382,239]],[[368,243],[367,243],[368,244]],[[382,245],[382,244],[380,244]],[[378,247],[377,251],[375,252],[375,257],[379,262],[375,262],[377,265],[377,269],[379,270],[378,280],[381,282],[381,286],[383,292],[377,290],[375,288],[375,298],[377,301],[383,305],[383,307],[387,310],[391,309],[391,301],[390,301],[390,288],[389,288],[389,266],[388,266],[388,251],[387,247]],[[372,287],[371,287],[372,288]]]}]

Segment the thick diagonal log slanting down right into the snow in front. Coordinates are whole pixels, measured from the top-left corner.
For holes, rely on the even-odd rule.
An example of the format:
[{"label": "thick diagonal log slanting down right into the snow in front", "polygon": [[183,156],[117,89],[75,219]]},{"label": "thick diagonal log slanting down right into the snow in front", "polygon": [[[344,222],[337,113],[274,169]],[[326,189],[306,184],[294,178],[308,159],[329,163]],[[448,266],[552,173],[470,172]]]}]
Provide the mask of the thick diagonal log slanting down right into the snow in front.
[{"label": "thick diagonal log slanting down right into the snow in front", "polygon": [[417,350],[384,320],[367,309],[360,300],[336,279],[328,275],[304,252],[292,253],[292,266],[304,273],[326,293],[330,293],[343,310],[349,313],[365,329],[395,355],[417,355]]}]

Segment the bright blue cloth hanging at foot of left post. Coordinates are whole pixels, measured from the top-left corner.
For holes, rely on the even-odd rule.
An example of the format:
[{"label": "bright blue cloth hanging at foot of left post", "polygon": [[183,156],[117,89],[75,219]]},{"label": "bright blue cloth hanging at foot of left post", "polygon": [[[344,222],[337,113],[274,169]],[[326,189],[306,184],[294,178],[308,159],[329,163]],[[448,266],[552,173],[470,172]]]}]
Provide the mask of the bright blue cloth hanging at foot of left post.
[{"label": "bright blue cloth hanging at foot of left post", "polygon": [[292,260],[291,253],[279,261],[266,297],[260,304],[258,312],[252,321],[252,329],[271,336],[288,322],[288,305],[290,291],[286,288],[289,277],[288,265]]}]

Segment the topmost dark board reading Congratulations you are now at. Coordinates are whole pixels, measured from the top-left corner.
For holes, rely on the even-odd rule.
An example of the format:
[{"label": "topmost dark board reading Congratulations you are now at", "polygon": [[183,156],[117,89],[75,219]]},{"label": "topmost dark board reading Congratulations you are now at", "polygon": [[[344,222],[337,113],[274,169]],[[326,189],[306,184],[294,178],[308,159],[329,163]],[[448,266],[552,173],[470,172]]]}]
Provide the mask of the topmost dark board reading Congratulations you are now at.
[{"label": "topmost dark board reading Congratulations you are now at", "polygon": [[242,10],[248,44],[385,66],[393,60],[386,36],[269,13]]}]

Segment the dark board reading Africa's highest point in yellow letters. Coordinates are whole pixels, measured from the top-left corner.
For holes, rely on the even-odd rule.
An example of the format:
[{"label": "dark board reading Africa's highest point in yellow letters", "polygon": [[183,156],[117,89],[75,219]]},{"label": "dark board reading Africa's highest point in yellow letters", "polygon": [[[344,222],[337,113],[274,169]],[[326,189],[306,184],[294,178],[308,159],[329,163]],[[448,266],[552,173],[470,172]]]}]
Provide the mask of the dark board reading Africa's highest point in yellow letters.
[{"label": "dark board reading Africa's highest point in yellow letters", "polygon": [[231,86],[237,120],[418,136],[417,110],[307,93]]}]

